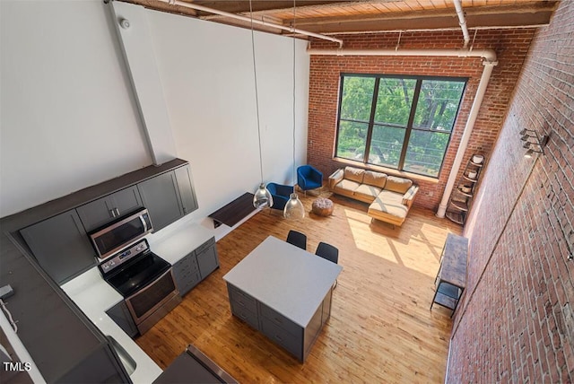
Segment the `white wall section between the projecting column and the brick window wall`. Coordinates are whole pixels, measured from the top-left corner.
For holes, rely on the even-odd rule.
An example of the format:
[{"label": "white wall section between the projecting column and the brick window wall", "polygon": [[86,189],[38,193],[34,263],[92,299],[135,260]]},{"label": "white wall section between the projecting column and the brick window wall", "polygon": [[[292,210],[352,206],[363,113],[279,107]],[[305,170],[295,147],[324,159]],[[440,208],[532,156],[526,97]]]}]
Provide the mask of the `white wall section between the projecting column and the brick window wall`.
[{"label": "white wall section between the projecting column and the brick window wall", "polygon": [[[260,182],[251,31],[149,11],[178,157],[201,218]],[[265,182],[292,183],[292,39],[255,33]],[[306,161],[309,55],[296,41],[296,163]]]}]

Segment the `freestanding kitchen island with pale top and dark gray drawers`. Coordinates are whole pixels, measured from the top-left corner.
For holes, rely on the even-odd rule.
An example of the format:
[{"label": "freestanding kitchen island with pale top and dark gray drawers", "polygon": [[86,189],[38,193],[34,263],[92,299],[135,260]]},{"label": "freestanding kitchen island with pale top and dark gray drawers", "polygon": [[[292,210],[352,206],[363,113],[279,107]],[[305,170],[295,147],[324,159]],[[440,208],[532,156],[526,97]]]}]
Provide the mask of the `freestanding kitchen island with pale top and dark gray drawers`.
[{"label": "freestanding kitchen island with pale top and dark gray drawers", "polygon": [[342,267],[269,236],[223,279],[231,313],[304,362]]}]

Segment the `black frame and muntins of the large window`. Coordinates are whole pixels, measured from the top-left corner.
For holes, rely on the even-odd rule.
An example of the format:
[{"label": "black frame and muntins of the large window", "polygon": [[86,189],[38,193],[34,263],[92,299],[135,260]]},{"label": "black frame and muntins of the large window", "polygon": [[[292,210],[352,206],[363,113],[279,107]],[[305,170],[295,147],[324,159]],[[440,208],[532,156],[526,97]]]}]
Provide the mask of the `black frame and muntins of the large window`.
[{"label": "black frame and muntins of the large window", "polygon": [[[413,75],[413,74],[354,74],[354,73],[341,73],[339,75],[339,97],[338,97],[338,106],[337,106],[337,123],[336,123],[336,135],[335,135],[335,153],[334,153],[334,157],[335,158],[339,158],[339,159],[344,159],[347,161],[358,161],[355,159],[347,159],[344,157],[339,157],[337,156],[338,153],[338,147],[339,147],[339,134],[341,132],[340,129],[340,124],[341,124],[341,108],[342,108],[342,104],[343,104],[343,91],[344,91],[344,77],[348,76],[348,77],[368,77],[368,78],[374,78],[375,79],[375,85],[373,88],[373,95],[372,95],[372,100],[371,100],[371,105],[370,105],[370,118],[369,121],[364,121],[364,120],[352,120],[352,119],[347,119],[344,118],[344,121],[349,121],[349,122],[357,122],[357,123],[367,123],[368,124],[368,128],[367,128],[367,137],[365,139],[365,150],[364,150],[364,154],[363,154],[363,159],[362,162],[365,166],[371,165],[371,166],[378,166],[378,167],[383,167],[383,168],[388,168],[388,169],[392,169],[392,170],[397,170],[397,171],[403,171],[403,172],[407,172],[407,173],[412,173],[415,175],[421,175],[423,177],[427,177],[427,178],[432,178],[432,179],[439,179],[440,178],[440,173],[442,172],[442,167],[444,165],[445,159],[446,159],[446,155],[448,152],[448,147],[450,146],[450,141],[452,140],[452,135],[455,131],[455,127],[457,126],[457,120],[458,120],[458,114],[460,113],[460,109],[461,106],[463,104],[463,100],[465,99],[465,92],[466,92],[466,86],[468,85],[468,77],[459,77],[459,76],[429,76],[429,75]],[[375,123],[375,114],[376,114],[376,109],[377,109],[377,101],[378,101],[378,87],[379,87],[379,83],[381,79],[411,79],[411,80],[416,80],[416,84],[414,87],[414,94],[413,94],[413,100],[411,102],[411,110],[409,113],[409,118],[408,118],[408,122],[406,124],[406,127],[402,127],[400,125],[396,125],[396,127],[399,128],[404,128],[405,132],[404,132],[404,141],[403,141],[403,146],[401,148],[401,154],[399,157],[399,161],[398,161],[398,165],[397,167],[392,167],[389,166],[388,164],[385,165],[381,165],[381,164],[375,164],[372,162],[369,162],[369,155],[370,155],[370,144],[372,141],[372,133],[373,133],[373,127],[375,126],[380,126],[380,124],[376,124]],[[451,81],[451,82],[458,82],[458,83],[464,83],[463,86],[463,90],[461,92],[461,97],[460,100],[458,101],[458,107],[457,107],[457,113],[455,115],[455,119],[453,121],[453,125],[451,127],[451,129],[447,132],[440,132],[440,131],[433,131],[430,129],[421,129],[421,128],[416,128],[413,127],[413,121],[414,121],[414,117],[416,114],[416,107],[418,105],[418,100],[419,97],[421,95],[421,88],[422,88],[422,81],[424,80],[431,80],[431,81]],[[386,123],[385,126],[388,127],[392,127],[394,126],[392,123]],[[433,176],[433,175],[429,175],[429,174],[424,174],[424,173],[419,173],[413,170],[404,170],[404,160],[406,158],[406,152],[408,149],[408,145],[409,145],[409,140],[411,138],[411,134],[413,131],[424,131],[424,132],[439,132],[441,134],[448,134],[448,142],[447,145],[445,146],[445,151],[443,153],[442,156],[442,161],[440,162],[440,167],[439,167],[439,171],[437,173],[437,176]]]}]

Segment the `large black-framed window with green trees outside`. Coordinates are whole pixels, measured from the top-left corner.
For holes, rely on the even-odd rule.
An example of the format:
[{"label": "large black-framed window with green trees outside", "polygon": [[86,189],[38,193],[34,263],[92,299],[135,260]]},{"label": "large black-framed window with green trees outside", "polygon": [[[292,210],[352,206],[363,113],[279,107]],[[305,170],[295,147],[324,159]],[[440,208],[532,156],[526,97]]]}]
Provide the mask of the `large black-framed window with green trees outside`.
[{"label": "large black-framed window with green trees outside", "polygon": [[439,176],[466,79],[342,74],[335,155]]}]

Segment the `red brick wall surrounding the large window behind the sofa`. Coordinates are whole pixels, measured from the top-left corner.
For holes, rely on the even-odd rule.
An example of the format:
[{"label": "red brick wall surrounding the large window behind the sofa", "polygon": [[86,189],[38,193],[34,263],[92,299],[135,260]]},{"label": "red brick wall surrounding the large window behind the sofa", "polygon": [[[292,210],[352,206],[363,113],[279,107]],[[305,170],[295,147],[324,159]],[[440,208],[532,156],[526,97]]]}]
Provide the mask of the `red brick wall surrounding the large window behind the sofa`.
[{"label": "red brick wall surrounding the large window behind the sofa", "polygon": [[[499,65],[495,66],[492,72],[491,83],[484,95],[483,108],[474,125],[464,161],[467,161],[473,153],[483,153],[487,158],[490,156],[534,32],[532,29],[479,31],[476,35],[474,48],[494,49],[498,55]],[[344,48],[395,48],[398,33],[344,35],[339,38],[344,39]],[[460,48],[461,46],[460,31],[408,32],[403,33],[400,40],[400,48],[406,49]],[[331,42],[313,40],[311,47],[335,48],[336,46]],[[341,162],[333,158],[341,73],[420,74],[469,78],[439,179],[437,181],[417,179],[421,191],[415,200],[415,205],[436,210],[452,169],[474,94],[483,73],[482,59],[312,56],[309,76],[307,154],[309,163],[325,175],[329,175],[342,166]]]}]

